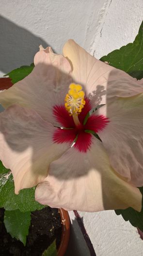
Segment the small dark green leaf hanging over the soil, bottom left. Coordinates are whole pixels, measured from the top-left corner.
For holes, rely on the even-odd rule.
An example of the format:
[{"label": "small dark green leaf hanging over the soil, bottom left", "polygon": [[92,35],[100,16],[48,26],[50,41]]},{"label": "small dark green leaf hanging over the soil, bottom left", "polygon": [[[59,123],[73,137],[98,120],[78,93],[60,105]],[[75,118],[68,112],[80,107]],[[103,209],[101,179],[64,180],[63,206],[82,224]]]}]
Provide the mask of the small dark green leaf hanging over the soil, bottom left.
[{"label": "small dark green leaf hanging over the soil, bottom left", "polygon": [[26,236],[31,224],[31,212],[5,211],[4,224],[8,233],[26,245]]}]

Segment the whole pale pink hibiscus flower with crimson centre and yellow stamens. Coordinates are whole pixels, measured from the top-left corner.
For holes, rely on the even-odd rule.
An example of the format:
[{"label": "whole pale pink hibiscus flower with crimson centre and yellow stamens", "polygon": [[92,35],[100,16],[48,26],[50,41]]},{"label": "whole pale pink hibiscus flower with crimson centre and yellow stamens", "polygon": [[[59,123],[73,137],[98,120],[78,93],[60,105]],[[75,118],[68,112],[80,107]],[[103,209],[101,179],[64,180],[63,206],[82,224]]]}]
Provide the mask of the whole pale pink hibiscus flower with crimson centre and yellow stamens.
[{"label": "whole pale pink hibiscus flower with crimson centre and yellow stamens", "polygon": [[67,210],[142,208],[143,79],[95,59],[73,40],[34,57],[0,93],[0,159],[15,193]]}]

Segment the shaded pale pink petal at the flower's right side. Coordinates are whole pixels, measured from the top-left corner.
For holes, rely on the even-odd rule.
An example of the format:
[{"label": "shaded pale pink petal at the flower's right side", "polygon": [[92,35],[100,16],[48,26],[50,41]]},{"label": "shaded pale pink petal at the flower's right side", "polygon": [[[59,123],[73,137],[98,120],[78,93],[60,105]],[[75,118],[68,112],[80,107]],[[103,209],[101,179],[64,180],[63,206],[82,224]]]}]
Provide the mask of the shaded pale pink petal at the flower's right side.
[{"label": "shaded pale pink petal at the flower's right side", "polygon": [[143,186],[143,94],[119,98],[97,114],[109,118],[98,132],[112,167],[137,187]]}]

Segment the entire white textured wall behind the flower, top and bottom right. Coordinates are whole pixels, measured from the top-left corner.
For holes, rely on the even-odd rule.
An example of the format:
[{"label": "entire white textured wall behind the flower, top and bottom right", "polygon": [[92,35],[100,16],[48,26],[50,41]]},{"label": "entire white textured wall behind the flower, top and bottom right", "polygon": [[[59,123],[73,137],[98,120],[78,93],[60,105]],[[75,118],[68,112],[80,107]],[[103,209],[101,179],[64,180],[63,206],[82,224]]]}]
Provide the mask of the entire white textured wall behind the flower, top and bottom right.
[{"label": "entire white textured wall behind the flower, top and bottom right", "polygon": [[[143,0],[0,0],[0,74],[30,64],[38,45],[60,53],[75,39],[96,58],[132,42]],[[67,256],[90,256],[73,212]],[[143,240],[114,211],[80,213],[96,256],[143,256]]]}]

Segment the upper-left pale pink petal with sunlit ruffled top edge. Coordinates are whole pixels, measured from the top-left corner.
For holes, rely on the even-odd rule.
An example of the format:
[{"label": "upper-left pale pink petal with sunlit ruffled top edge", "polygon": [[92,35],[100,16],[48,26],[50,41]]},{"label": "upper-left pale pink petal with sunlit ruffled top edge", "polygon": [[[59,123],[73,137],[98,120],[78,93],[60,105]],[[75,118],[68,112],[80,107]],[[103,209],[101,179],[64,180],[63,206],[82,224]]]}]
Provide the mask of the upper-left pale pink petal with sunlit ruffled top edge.
[{"label": "upper-left pale pink petal with sunlit ruffled top edge", "polygon": [[53,106],[64,104],[71,83],[71,67],[67,59],[53,54],[50,48],[39,51],[34,61],[36,66],[32,73],[3,91],[0,103],[4,108],[13,104],[27,107],[55,124]]}]

